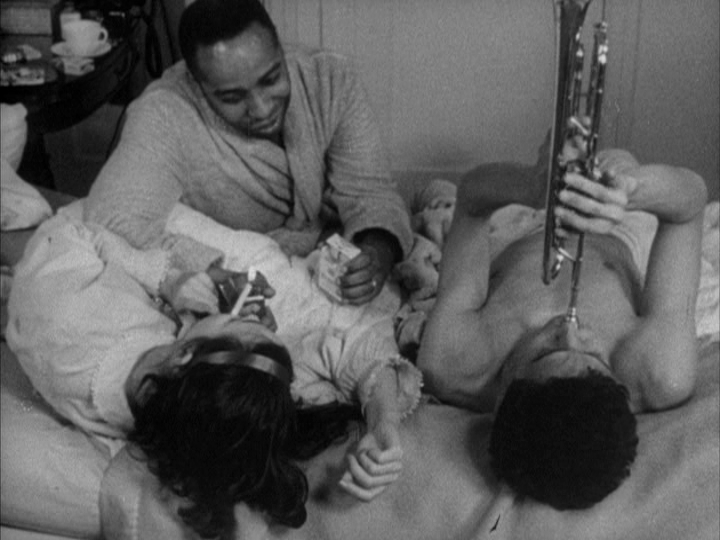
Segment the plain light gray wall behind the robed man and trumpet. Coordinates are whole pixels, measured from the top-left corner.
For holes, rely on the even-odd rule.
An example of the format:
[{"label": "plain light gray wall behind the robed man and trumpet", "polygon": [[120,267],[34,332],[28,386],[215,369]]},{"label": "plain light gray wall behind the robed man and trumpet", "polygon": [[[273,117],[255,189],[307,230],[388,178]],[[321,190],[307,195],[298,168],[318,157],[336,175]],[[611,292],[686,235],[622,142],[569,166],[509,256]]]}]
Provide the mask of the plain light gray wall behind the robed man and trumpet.
[{"label": "plain light gray wall behind the robed man and trumpet", "polygon": [[[184,0],[166,1],[176,25]],[[535,161],[552,121],[552,0],[264,3],[283,39],[357,61],[398,176],[450,177],[481,162]],[[601,8],[593,0],[588,46]],[[719,16],[720,0],[606,1],[610,61],[600,141],[643,162],[692,168],[716,199]],[[55,137],[56,164],[67,161],[62,138],[94,174],[104,156],[87,148],[104,140],[98,130],[112,125],[113,114],[101,111],[72,136]]]}]

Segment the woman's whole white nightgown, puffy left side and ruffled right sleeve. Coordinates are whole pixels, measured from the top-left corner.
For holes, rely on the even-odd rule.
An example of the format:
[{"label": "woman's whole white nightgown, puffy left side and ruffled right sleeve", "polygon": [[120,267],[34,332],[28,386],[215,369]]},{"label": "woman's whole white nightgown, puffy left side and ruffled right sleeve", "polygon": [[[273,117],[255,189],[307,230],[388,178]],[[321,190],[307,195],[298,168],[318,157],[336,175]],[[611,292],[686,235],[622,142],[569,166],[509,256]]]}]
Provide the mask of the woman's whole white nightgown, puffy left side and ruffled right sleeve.
[{"label": "woman's whole white nightgown, puffy left side and ruffled right sleeve", "polygon": [[[120,268],[105,265],[80,220],[82,201],[61,209],[28,242],[16,266],[7,341],[33,385],[62,416],[88,432],[122,437],[133,423],[123,384],[146,350],[174,340],[175,324]],[[357,400],[378,360],[398,350],[397,289],[361,307],[332,303],[306,259],[288,259],[258,233],[232,231],[178,205],[169,232],[226,253],[226,267],[254,266],[276,289],[268,304],[296,366],[305,402]]]}]

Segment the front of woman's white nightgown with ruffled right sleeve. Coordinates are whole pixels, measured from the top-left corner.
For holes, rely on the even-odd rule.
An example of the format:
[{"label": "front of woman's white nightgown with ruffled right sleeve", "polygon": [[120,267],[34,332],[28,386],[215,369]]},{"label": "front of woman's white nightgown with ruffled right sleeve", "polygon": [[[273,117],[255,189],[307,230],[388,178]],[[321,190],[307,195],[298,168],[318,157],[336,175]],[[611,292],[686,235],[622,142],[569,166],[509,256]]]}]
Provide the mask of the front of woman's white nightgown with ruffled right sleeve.
[{"label": "front of woman's white nightgown with ruffled right sleeve", "polygon": [[368,378],[374,362],[389,362],[398,354],[392,322],[400,308],[397,286],[386,286],[364,306],[341,305],[317,286],[317,251],[306,258],[287,257],[268,236],[234,231],[181,204],[171,213],[167,230],[218,249],[227,269],[252,266],[267,277],[276,290],[268,306],[277,334],[293,356],[292,389],[304,402],[357,399],[358,382]]}]

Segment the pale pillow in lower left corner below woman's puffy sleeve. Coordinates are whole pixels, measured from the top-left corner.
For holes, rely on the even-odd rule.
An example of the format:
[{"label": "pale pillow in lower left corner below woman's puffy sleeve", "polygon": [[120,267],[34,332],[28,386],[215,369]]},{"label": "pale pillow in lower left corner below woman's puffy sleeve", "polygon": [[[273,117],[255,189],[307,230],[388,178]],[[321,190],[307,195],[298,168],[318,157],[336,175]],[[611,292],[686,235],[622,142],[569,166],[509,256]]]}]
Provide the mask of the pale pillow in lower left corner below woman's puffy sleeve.
[{"label": "pale pillow in lower left corner below woman's puffy sleeve", "polygon": [[98,538],[100,483],[109,449],[59,419],[34,391],[7,344],[0,347],[3,525]]}]

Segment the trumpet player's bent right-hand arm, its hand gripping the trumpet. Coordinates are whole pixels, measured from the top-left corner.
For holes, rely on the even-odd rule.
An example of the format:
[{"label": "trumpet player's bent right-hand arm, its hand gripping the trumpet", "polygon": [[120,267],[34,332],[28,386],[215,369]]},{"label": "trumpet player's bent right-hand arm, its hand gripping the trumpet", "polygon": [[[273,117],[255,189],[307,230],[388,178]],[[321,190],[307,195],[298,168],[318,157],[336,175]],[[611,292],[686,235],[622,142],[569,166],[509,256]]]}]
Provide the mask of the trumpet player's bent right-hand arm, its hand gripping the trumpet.
[{"label": "trumpet player's bent right-hand arm, its hand gripping the trumpet", "polygon": [[[696,374],[695,303],[700,276],[705,182],[668,165],[640,166],[626,152],[601,156],[605,184],[568,176],[569,187],[588,194],[562,196],[586,216],[560,209],[580,230],[604,232],[624,211],[658,218],[645,285],[637,306],[640,324],[620,344],[613,361],[621,380],[638,396],[638,410],[664,409],[692,393]],[[598,217],[599,216],[599,217]]]}]

